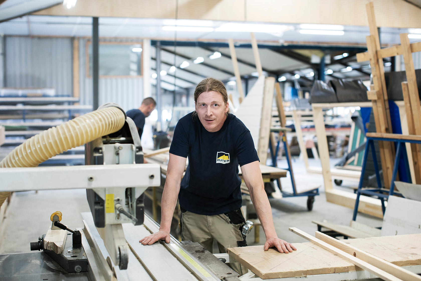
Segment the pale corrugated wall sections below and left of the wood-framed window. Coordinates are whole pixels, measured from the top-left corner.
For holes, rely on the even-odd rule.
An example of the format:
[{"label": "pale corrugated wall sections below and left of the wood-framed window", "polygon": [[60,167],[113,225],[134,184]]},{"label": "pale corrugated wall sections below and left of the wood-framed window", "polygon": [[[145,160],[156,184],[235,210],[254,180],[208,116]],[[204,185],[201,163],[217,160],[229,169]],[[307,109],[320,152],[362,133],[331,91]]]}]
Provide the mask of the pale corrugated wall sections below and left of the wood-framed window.
[{"label": "pale corrugated wall sections below and left of the wood-framed window", "polygon": [[[86,39],[79,39],[80,104],[92,104],[92,78],[87,76]],[[115,102],[124,110],[138,108],[143,100],[143,78],[99,78],[99,104]]]}]

